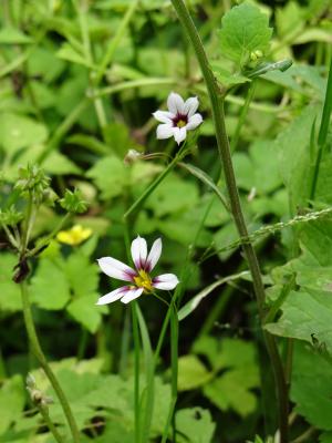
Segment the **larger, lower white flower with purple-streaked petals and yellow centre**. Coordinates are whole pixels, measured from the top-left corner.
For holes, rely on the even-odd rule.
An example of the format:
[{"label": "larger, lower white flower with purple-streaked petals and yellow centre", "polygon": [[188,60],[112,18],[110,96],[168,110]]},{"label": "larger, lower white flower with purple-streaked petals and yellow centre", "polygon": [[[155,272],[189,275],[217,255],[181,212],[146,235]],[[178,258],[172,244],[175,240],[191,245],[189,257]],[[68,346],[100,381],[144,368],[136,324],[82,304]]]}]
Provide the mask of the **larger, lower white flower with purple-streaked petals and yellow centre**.
[{"label": "larger, lower white flower with purple-streaked petals and yellow centre", "polygon": [[174,289],[179,282],[174,274],[163,274],[154,278],[149,275],[160,257],[162,247],[162,239],[158,238],[147,255],[146,240],[139,236],[135,238],[132,243],[132,257],[136,269],[112,257],[100,258],[97,261],[104,274],[118,280],[128,281],[129,285],[101,297],[97,305],[112,303],[118,299],[123,303],[128,303],[142,296],[143,292],[152,292],[154,288],[163,290]]}]

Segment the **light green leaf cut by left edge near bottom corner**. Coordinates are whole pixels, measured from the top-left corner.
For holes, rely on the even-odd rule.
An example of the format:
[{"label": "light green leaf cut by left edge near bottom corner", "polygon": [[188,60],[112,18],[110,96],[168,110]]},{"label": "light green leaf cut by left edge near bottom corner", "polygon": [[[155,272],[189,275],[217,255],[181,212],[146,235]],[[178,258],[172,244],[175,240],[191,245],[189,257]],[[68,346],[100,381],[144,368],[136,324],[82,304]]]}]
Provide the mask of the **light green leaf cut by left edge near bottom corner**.
[{"label": "light green leaf cut by left edge near bottom corner", "polygon": [[0,389],[0,434],[23,412],[25,392],[21,375],[14,375],[3,382]]}]

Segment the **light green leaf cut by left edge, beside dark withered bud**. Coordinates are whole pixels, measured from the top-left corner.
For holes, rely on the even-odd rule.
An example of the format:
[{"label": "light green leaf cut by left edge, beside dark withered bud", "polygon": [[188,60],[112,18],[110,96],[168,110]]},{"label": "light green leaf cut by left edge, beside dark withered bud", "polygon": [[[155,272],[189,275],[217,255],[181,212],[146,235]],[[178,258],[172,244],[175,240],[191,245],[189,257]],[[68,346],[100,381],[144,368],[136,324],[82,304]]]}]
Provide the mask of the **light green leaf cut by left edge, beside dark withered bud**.
[{"label": "light green leaf cut by left edge, beside dark withered bud", "polygon": [[19,285],[12,281],[18,259],[11,254],[0,255],[0,311],[15,312],[22,309]]}]

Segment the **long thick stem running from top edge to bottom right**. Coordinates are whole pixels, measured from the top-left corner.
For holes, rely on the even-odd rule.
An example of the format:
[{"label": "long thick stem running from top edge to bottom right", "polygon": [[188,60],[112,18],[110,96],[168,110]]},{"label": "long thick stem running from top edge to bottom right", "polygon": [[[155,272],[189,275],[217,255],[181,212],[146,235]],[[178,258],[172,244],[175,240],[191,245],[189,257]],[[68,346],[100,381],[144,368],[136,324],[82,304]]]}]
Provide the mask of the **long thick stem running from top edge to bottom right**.
[{"label": "long thick stem running from top edge to bottom right", "polygon": [[[234,167],[231,163],[231,155],[229,148],[229,142],[225,127],[225,115],[224,115],[224,101],[218,89],[218,84],[215,81],[212,71],[209,68],[208,59],[204,50],[204,45],[199,38],[199,34],[195,28],[195,24],[188,13],[188,10],[183,0],[172,0],[172,3],[177,12],[177,16],[181,22],[181,25],[186,32],[186,35],[190,40],[193,48],[196,53],[196,58],[199,62],[204,80],[208,90],[212,117],[216,128],[216,137],[218,144],[218,152],[221,165],[224,167],[225,181],[228,189],[230,207],[234,215],[234,219],[237,229],[241,237],[248,236],[246,222],[243,218],[238,188],[236,184]],[[253,289],[258,305],[259,317],[261,322],[264,316],[264,287],[261,279],[260,268],[256,253],[252,245],[249,243],[243,245],[248,266],[252,276]],[[284,373],[282,362],[277,349],[276,340],[272,336],[264,332],[264,339],[267,349],[270,356],[270,360],[273,367],[278,400],[279,400],[279,429],[280,429],[280,443],[288,442],[288,389],[284,380]]]}]

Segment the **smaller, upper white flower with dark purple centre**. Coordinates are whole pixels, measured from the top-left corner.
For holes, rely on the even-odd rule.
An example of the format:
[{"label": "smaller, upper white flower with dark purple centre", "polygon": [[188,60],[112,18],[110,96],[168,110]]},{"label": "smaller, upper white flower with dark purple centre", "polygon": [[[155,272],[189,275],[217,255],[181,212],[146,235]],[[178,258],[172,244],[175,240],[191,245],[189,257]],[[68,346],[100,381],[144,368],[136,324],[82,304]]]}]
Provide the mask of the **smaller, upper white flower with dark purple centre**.
[{"label": "smaller, upper white flower with dark purple centre", "polygon": [[198,99],[190,97],[184,102],[180,95],[172,92],[167,99],[167,106],[168,111],[153,113],[154,117],[162,123],[157,127],[157,138],[174,136],[179,145],[186,138],[187,131],[195,130],[203,122],[201,115],[196,113]]}]

